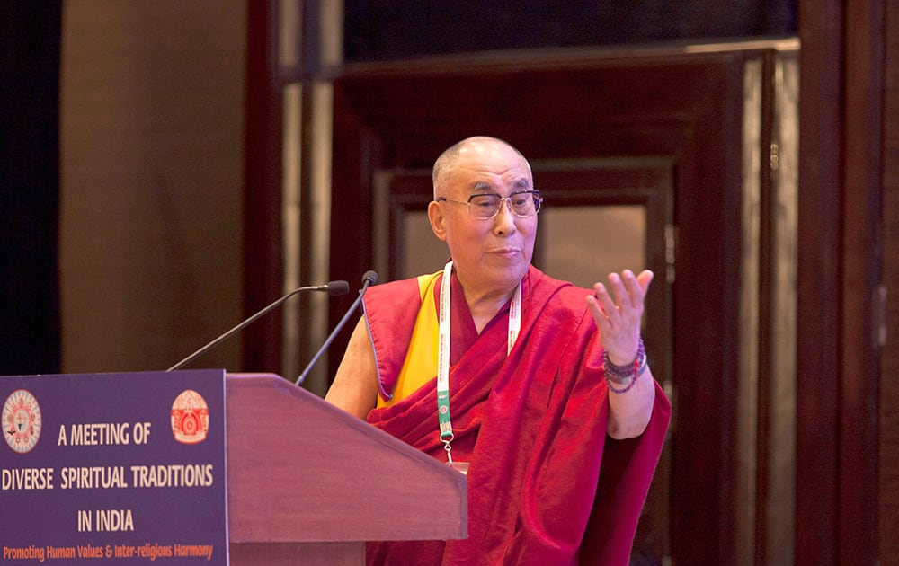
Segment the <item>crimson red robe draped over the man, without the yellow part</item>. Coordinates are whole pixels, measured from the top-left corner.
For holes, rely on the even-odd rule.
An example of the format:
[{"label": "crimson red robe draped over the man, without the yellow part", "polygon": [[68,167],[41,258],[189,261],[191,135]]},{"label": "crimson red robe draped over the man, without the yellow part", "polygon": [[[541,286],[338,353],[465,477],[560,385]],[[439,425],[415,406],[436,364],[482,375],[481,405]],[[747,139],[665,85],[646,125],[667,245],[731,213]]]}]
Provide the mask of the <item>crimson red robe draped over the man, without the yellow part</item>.
[{"label": "crimson red robe draped over the man, without the yellow part", "polygon": [[[369,564],[628,563],[671,406],[659,385],[641,377],[635,386],[656,390],[647,429],[639,438],[608,438],[600,337],[584,300],[591,291],[533,267],[521,290],[521,333],[509,355],[504,309],[449,370],[452,455],[470,463],[467,539],[371,543]],[[364,297],[385,398],[413,332],[421,332],[414,328],[419,309],[436,308],[422,305],[422,296],[417,279],[406,279]],[[460,292],[452,305],[467,309]],[[368,420],[446,462],[436,369]]]}]

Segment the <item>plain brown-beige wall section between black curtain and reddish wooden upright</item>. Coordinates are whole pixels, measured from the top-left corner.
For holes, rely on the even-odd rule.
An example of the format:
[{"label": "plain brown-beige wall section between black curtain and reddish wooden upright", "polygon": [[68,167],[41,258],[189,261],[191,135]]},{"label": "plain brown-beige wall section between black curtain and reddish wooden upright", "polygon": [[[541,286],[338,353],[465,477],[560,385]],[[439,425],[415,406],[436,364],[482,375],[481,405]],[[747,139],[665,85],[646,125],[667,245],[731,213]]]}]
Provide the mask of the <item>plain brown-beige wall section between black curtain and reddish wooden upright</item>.
[{"label": "plain brown-beige wall section between black curtain and reddish wooden upright", "polygon": [[242,318],[245,2],[63,4],[64,372],[165,369]]}]

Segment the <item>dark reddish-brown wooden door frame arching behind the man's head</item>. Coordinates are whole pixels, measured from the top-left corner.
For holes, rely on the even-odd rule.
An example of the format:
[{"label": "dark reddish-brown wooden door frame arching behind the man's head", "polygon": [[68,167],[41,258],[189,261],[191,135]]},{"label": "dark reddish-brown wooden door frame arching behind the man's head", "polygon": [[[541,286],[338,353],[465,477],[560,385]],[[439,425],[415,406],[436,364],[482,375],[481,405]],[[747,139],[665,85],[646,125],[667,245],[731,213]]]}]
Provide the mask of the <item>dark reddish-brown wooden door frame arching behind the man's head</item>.
[{"label": "dark reddish-brown wooden door frame arching behind the man's head", "polygon": [[[670,157],[681,186],[701,189],[675,204],[678,223],[689,226],[679,234],[675,320],[690,325],[675,328],[673,367],[678,402],[690,411],[676,423],[672,499],[673,507],[689,502],[698,510],[672,517],[672,553],[683,563],[734,562],[737,503],[728,494],[736,488],[741,278],[734,226],[741,226],[743,62],[759,56],[651,50],[623,57],[594,50],[513,60],[454,57],[351,66],[334,80],[333,189],[342,198],[333,200],[332,216],[359,230],[334,233],[333,273],[369,269],[368,211],[379,170],[430,167],[443,148],[476,132],[508,139],[532,160]],[[639,75],[633,84],[651,85],[642,95],[622,90],[633,74]],[[560,88],[567,89],[566,104],[581,107],[547,116]],[[597,111],[603,102],[610,110]],[[650,124],[648,134],[636,132],[641,120]],[[335,302],[332,315],[342,312]],[[332,363],[340,351],[334,349]]]}]

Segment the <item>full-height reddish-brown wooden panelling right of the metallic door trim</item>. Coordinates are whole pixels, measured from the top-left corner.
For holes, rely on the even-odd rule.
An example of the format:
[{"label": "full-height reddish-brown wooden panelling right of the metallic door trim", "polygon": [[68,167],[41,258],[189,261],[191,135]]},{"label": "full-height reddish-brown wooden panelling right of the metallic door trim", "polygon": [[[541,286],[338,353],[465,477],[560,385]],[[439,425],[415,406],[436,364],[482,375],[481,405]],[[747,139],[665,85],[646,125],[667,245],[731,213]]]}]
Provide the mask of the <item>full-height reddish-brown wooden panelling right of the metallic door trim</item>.
[{"label": "full-height reddish-brown wooden panelling right of the metallic door trim", "polygon": [[799,3],[797,564],[877,563],[885,5]]}]

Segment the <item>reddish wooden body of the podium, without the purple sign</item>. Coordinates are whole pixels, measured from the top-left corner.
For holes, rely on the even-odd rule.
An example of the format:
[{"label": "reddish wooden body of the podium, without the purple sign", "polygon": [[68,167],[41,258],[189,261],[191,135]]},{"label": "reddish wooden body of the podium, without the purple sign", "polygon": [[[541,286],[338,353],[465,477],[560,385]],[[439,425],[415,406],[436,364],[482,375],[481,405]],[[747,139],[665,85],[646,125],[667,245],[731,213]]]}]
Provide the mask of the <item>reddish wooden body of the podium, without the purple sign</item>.
[{"label": "reddish wooden body of the podium, without the purple sign", "polygon": [[[280,376],[229,374],[231,564],[361,564],[366,541],[467,536],[467,479]],[[436,434],[436,432],[435,432]]]}]

